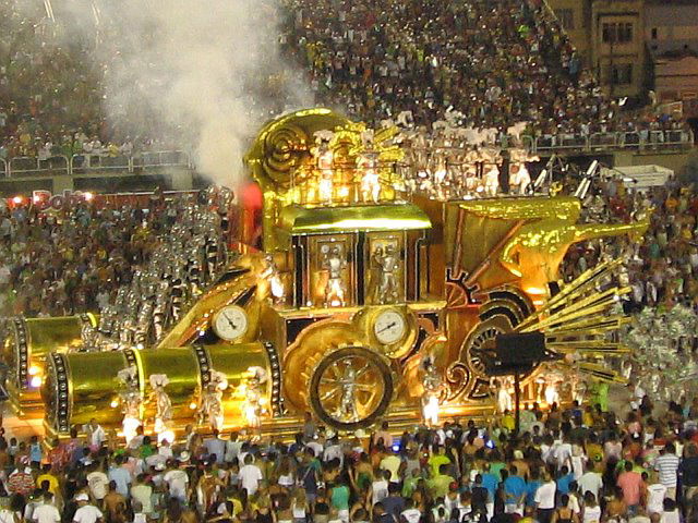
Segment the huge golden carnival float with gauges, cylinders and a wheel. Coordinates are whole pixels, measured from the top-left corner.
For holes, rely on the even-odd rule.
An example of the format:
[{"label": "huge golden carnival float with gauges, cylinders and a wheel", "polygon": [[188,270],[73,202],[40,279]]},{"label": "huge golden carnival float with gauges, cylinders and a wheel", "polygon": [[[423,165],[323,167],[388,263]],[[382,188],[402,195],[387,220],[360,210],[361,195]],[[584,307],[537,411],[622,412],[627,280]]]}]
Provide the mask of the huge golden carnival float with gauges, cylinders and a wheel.
[{"label": "huge golden carnival float with gauges, cylinders and a wheel", "polygon": [[230,256],[139,342],[84,350],[85,332],[105,336],[98,316],[12,319],[20,415],[57,436],[96,418],[127,439],[139,426],[279,431],[308,412],[340,431],[434,424],[492,409],[506,378],[492,379],[486,355],[513,332],[542,332],[564,356],[525,377],[527,401],[556,400],[563,382],[569,397],[580,372],[618,379],[604,364],[624,351],[618,262],[562,285],[558,267],[573,243],[647,222],[580,223],[578,198],[502,196],[486,166],[462,173],[457,195],[424,191],[396,137],[325,109],[267,123],[245,157],[263,248]]}]

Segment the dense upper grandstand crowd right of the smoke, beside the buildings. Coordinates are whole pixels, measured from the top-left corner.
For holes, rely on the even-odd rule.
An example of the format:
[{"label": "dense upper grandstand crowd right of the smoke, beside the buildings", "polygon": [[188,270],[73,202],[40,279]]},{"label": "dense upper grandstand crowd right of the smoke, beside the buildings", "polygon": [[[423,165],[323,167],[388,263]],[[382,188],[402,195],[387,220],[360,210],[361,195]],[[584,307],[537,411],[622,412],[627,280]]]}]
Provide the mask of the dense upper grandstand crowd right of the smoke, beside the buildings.
[{"label": "dense upper grandstand crowd right of the smoke, beside the buildings", "polygon": [[605,96],[540,0],[288,0],[284,44],[317,100],[377,123],[448,112],[531,136],[672,129]]}]

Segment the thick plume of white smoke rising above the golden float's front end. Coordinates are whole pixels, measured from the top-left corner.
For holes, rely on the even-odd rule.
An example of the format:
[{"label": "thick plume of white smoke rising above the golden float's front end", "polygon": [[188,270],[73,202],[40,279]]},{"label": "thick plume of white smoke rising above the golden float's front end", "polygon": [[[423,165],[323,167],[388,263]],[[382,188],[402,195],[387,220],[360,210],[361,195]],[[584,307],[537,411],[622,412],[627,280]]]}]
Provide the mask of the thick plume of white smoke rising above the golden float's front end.
[{"label": "thick plume of white smoke rising above the golden float's front end", "polygon": [[60,33],[94,49],[110,123],[160,139],[174,134],[215,183],[237,185],[265,119],[312,102],[279,54],[279,0],[55,0],[52,8]]}]

